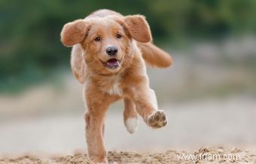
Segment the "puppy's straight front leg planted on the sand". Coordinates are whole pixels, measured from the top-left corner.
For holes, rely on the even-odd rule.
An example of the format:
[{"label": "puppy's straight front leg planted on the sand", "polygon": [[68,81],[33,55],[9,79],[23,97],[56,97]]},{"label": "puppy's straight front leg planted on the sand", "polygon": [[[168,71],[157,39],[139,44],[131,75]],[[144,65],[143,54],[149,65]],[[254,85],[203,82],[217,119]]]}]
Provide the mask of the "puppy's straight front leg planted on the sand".
[{"label": "puppy's straight front leg planted on the sand", "polygon": [[90,160],[94,163],[108,163],[103,142],[103,129],[109,102],[103,100],[103,95],[90,91],[87,91],[85,98],[87,101],[85,136]]}]

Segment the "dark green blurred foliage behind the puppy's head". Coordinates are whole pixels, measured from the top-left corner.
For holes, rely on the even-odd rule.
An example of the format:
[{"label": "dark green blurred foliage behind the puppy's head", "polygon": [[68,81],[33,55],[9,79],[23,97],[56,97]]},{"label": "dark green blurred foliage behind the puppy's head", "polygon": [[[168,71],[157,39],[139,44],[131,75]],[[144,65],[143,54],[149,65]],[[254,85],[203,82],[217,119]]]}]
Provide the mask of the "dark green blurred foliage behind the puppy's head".
[{"label": "dark green blurred foliage behind the puppy's head", "polygon": [[0,89],[26,74],[42,79],[56,67],[69,66],[70,49],[59,42],[62,25],[101,8],[145,15],[155,41],[218,38],[256,29],[254,0],[2,0]]}]

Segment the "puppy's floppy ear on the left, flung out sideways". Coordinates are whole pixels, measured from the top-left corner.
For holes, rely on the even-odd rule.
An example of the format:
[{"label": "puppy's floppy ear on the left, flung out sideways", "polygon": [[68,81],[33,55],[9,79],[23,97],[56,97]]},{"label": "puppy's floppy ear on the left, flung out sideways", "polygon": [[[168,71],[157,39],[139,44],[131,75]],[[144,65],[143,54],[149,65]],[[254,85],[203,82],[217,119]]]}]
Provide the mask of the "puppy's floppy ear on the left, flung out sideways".
[{"label": "puppy's floppy ear on the left, flung out sideways", "polygon": [[65,46],[73,46],[84,40],[90,22],[84,19],[78,19],[74,22],[68,22],[63,26],[60,33],[60,41]]}]

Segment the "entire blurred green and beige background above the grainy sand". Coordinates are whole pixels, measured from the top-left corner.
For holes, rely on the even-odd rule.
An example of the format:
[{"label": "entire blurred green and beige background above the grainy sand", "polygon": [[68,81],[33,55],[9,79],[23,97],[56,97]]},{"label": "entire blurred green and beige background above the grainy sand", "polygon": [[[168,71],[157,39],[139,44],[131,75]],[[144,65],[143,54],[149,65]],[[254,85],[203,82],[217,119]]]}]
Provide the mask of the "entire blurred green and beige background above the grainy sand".
[{"label": "entire blurred green and beige background above the grainy sand", "polygon": [[256,151],[256,1],[1,0],[0,156],[86,150],[83,86],[59,34],[67,22],[102,8],[145,15],[154,43],[174,59],[166,69],[148,67],[168,126],[151,130],[140,119],[131,136],[120,101],[107,116],[108,150]]}]

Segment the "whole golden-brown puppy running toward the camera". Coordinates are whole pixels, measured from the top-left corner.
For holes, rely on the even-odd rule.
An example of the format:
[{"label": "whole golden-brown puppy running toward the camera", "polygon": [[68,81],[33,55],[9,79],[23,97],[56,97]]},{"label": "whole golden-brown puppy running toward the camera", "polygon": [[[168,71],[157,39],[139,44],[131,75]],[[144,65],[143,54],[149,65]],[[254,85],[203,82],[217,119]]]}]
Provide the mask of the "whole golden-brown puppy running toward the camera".
[{"label": "whole golden-brown puppy running toward the camera", "polygon": [[92,162],[108,163],[104,119],[108,106],[117,100],[124,100],[123,121],[128,132],[135,132],[138,114],[150,127],[166,126],[166,114],[157,108],[148,85],[145,63],[169,67],[172,58],[151,43],[145,16],[96,10],[64,25],[60,37],[65,46],[72,46],[72,72],[84,84],[86,139]]}]

